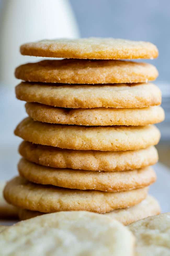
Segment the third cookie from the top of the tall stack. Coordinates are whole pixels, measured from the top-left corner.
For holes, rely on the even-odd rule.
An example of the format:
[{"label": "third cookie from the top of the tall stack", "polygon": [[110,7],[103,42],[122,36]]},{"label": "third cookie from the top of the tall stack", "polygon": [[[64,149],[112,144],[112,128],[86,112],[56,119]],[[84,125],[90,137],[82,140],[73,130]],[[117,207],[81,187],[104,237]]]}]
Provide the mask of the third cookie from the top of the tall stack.
[{"label": "third cookie from the top of the tall stack", "polygon": [[15,92],[19,100],[64,108],[143,108],[161,104],[161,91],[152,83],[57,85],[22,82]]}]

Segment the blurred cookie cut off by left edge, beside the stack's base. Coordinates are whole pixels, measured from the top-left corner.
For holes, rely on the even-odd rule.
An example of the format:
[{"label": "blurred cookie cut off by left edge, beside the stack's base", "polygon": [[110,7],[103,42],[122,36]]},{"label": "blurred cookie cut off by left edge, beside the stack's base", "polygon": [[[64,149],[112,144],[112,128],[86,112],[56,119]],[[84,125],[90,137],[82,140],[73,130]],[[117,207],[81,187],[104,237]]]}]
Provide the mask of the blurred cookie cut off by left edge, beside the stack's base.
[{"label": "blurred cookie cut off by left edge, beside the stack's base", "polygon": [[18,209],[12,205],[9,205],[4,200],[3,189],[5,184],[5,181],[0,181],[0,219],[15,219],[18,218]]}]

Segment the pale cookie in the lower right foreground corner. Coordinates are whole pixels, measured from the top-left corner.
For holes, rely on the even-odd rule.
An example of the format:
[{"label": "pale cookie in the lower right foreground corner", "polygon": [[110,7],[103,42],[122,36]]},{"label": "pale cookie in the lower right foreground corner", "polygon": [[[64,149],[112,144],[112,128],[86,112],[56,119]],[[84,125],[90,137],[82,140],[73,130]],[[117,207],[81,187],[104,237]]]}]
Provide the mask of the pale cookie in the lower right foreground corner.
[{"label": "pale cookie in the lower right foreground corner", "polygon": [[137,239],[136,256],[170,255],[170,212],[134,222],[129,229]]}]

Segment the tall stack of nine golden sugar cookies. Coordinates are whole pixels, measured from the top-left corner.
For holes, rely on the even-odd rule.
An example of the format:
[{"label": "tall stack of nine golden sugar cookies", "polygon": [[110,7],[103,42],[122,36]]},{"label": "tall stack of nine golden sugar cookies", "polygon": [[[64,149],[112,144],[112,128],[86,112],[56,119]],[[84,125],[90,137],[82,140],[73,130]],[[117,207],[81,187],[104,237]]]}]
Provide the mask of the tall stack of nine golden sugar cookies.
[{"label": "tall stack of nine golden sugar cookies", "polygon": [[[57,211],[105,213],[124,224],[160,213],[148,186],[164,119],[155,45],[122,39],[43,40],[21,54],[66,58],[27,63],[15,71],[16,97],[26,101],[15,134],[24,141],[20,176],[5,199],[21,219]],[[123,59],[123,60],[120,60]]]}]

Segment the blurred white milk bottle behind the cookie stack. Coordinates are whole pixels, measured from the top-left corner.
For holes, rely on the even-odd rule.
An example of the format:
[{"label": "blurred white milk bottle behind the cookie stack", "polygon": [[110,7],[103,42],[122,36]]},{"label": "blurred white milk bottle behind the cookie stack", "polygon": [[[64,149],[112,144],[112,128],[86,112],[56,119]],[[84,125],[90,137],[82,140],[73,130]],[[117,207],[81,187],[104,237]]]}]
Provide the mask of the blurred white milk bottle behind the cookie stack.
[{"label": "blurred white milk bottle behind the cookie stack", "polygon": [[0,83],[14,86],[16,66],[41,58],[22,56],[19,46],[45,38],[76,38],[78,27],[68,0],[4,0],[0,24]]}]

